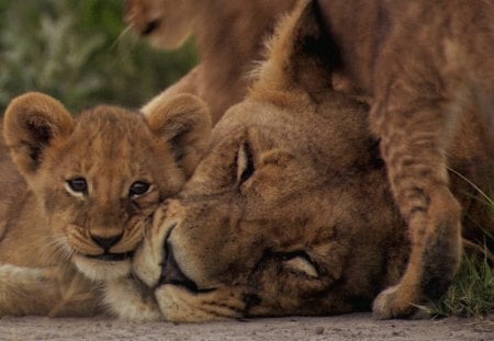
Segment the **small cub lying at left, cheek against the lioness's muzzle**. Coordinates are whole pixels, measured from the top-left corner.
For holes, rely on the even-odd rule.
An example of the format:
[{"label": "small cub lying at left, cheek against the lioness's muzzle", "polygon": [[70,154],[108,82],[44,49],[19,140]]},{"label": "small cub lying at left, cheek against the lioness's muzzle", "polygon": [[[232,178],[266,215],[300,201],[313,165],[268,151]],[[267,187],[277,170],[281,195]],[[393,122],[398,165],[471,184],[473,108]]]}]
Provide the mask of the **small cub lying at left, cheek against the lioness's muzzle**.
[{"label": "small cub lying at left, cheek against the lioness's muzzle", "polygon": [[0,315],[100,311],[98,283],[128,275],[146,223],[191,175],[210,128],[189,94],[147,117],[98,106],[72,118],[48,95],[14,99],[0,143]]}]

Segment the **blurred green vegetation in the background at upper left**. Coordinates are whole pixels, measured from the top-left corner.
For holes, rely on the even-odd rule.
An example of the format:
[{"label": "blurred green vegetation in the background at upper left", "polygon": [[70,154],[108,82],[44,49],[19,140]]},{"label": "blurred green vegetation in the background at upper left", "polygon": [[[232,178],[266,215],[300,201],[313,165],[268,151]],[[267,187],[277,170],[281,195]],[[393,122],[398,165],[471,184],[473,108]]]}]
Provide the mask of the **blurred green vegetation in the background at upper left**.
[{"label": "blurred green vegetation in the background at upper left", "polygon": [[193,44],[151,48],[126,29],[125,0],[1,0],[0,111],[41,91],[77,112],[139,107],[197,62]]}]

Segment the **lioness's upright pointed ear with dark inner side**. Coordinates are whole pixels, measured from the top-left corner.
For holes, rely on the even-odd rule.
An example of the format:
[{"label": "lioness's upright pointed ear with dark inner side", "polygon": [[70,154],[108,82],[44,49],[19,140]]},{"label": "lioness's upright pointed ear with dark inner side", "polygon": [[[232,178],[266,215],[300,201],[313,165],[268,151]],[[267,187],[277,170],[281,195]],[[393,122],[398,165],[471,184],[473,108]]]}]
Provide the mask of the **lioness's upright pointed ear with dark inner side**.
[{"label": "lioness's upright pointed ear with dark inner side", "polygon": [[[325,29],[317,1],[299,1],[295,9],[280,20],[267,44],[268,60],[255,72],[260,91],[300,86],[319,91],[332,84],[332,70],[340,67],[336,43]],[[255,87],[256,88],[256,87]]]}]

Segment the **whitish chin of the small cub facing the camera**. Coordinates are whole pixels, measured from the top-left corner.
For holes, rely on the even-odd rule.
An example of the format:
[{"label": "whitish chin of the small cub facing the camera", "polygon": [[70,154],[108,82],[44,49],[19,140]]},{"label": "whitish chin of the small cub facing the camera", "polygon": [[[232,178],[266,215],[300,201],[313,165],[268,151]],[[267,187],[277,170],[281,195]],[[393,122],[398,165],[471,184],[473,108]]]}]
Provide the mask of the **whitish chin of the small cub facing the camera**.
[{"label": "whitish chin of the small cub facing the camera", "polygon": [[93,281],[112,281],[124,277],[131,273],[132,269],[130,258],[112,261],[75,254],[72,262],[82,274]]}]

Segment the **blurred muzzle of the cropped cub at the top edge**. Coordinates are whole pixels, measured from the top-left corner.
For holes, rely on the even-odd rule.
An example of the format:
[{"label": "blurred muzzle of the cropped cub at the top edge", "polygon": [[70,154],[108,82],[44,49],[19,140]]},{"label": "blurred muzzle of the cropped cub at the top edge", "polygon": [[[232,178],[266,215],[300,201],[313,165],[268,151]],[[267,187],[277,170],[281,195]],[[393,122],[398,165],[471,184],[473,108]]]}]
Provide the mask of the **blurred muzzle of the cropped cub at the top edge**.
[{"label": "blurred muzzle of the cropped cub at the top edge", "polygon": [[201,1],[127,0],[126,21],[153,45],[173,49],[192,34]]}]

